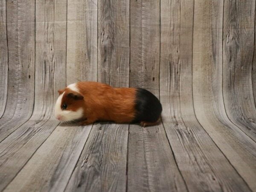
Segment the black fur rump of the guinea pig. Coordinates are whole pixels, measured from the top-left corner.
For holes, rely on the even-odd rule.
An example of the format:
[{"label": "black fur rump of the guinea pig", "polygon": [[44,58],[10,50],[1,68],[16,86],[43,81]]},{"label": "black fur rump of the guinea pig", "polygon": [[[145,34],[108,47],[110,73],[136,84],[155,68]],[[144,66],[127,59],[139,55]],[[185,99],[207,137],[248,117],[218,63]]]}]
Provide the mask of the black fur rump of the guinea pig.
[{"label": "black fur rump of the guinea pig", "polygon": [[134,122],[156,122],[161,115],[162,105],[151,92],[137,88],[135,109]]}]

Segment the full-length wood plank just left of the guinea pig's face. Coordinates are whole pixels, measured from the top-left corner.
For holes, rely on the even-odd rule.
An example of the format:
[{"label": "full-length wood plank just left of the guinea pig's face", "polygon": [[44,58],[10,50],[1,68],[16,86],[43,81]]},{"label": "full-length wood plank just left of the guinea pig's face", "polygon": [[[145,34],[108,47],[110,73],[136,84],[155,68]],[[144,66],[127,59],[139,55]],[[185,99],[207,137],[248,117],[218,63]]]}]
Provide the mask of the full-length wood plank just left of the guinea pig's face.
[{"label": "full-length wood plank just left of the guinea pig's face", "polygon": [[66,83],[62,75],[66,67],[66,6],[65,0],[36,2],[35,107],[29,121],[0,143],[0,190],[12,181],[59,123],[52,111],[57,90]]}]

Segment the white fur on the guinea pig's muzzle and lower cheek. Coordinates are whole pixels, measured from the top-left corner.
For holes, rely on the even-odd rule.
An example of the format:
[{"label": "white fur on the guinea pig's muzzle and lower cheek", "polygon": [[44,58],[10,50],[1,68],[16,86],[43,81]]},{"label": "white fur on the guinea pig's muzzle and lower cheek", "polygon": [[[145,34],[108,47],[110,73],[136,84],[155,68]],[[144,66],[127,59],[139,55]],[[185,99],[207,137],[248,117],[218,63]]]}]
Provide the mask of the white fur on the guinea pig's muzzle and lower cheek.
[{"label": "white fur on the guinea pig's muzzle and lower cheek", "polygon": [[80,119],[83,117],[83,108],[79,108],[77,111],[69,111],[68,106],[66,110],[61,109],[61,100],[65,92],[63,92],[57,99],[55,108],[54,108],[54,116],[57,118],[61,116],[60,121],[72,121],[76,119]]}]

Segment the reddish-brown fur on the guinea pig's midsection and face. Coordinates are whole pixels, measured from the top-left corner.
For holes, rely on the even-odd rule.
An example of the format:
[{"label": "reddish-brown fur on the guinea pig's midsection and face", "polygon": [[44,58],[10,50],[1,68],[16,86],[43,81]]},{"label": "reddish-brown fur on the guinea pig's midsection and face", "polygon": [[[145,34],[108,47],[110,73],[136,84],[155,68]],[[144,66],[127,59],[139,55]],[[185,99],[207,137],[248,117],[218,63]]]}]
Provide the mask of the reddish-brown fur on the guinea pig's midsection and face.
[{"label": "reddish-brown fur on the guinea pig's midsection and face", "polygon": [[79,94],[65,88],[58,90],[61,94],[65,91],[61,106],[66,103],[67,109],[76,111],[82,107],[84,120],[80,125],[100,121],[114,121],[117,123],[128,123],[134,120],[136,88],[113,88],[107,84],[98,82],[78,82],[77,87],[83,99],[68,97],[69,93]]}]

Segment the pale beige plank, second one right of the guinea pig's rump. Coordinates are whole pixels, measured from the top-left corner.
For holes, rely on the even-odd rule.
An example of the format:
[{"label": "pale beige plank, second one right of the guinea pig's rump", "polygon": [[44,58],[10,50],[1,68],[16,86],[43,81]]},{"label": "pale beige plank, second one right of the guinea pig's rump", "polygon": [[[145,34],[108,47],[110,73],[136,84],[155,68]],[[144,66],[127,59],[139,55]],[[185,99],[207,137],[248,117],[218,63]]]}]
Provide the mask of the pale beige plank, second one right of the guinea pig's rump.
[{"label": "pale beige plank, second one right of the guinea pig's rump", "polygon": [[[223,2],[195,0],[193,98],[196,116],[212,140],[255,189],[256,143],[227,117],[222,95]],[[239,177],[232,174],[233,178]]]}]

